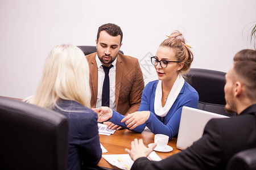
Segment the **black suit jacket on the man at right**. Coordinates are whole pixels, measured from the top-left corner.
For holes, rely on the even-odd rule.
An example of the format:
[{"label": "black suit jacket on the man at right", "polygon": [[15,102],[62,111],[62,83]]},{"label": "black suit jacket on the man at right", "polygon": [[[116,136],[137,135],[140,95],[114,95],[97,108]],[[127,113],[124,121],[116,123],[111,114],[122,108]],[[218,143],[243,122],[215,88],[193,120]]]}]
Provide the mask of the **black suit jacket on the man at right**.
[{"label": "black suit jacket on the man at right", "polygon": [[256,104],[239,116],[212,119],[201,139],[160,162],[135,160],[131,169],[225,169],[237,152],[256,147]]}]

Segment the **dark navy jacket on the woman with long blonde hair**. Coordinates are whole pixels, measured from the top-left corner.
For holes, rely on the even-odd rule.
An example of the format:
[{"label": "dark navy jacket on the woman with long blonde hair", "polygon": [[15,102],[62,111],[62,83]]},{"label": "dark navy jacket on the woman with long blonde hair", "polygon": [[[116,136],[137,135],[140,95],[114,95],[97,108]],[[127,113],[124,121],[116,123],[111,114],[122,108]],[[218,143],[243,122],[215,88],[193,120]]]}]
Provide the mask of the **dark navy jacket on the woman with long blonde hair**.
[{"label": "dark navy jacket on the woman with long blonde hair", "polygon": [[[90,169],[101,160],[98,116],[92,109],[73,100],[59,100],[55,111],[64,114],[69,122],[68,169]],[[72,112],[73,111],[73,112]]]}]

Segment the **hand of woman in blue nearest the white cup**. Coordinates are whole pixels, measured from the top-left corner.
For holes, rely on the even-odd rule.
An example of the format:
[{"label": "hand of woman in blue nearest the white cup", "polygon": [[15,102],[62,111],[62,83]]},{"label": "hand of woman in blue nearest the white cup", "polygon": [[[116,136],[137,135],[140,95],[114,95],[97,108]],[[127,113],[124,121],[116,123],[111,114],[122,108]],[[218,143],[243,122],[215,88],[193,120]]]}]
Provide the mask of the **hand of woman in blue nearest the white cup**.
[{"label": "hand of woman in blue nearest the white cup", "polygon": [[121,122],[125,122],[127,128],[134,129],[139,125],[144,124],[150,117],[150,111],[141,111],[134,112],[126,116],[121,120]]}]

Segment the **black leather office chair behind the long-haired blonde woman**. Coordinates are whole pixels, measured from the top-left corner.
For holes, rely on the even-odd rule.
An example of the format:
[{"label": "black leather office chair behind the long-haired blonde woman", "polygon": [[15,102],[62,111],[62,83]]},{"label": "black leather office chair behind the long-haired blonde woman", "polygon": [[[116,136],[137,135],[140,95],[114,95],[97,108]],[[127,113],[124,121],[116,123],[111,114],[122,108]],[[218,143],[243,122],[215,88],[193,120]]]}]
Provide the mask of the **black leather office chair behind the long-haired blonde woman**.
[{"label": "black leather office chair behind the long-haired blonde woman", "polygon": [[0,169],[67,169],[68,120],[0,97]]}]

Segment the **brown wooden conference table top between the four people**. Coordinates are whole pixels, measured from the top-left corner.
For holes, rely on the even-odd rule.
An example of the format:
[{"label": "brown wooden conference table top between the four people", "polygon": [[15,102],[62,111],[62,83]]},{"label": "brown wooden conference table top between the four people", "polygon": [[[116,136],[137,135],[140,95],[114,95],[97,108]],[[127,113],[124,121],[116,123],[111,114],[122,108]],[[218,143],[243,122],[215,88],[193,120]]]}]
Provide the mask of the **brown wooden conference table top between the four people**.
[{"label": "brown wooden conference table top between the four people", "polygon": [[[131,148],[131,141],[135,138],[143,139],[144,145],[148,145],[150,143],[154,143],[154,134],[150,131],[143,131],[142,133],[134,133],[133,131],[123,129],[116,130],[114,134],[109,136],[100,135],[101,144],[108,150],[105,154],[127,154],[125,152],[125,148]],[[180,150],[176,147],[177,138],[172,138],[171,141],[168,142],[168,145],[174,148],[171,152],[158,152],[155,151],[156,154],[161,158],[165,159],[168,156],[174,155]],[[110,169],[119,169],[111,164],[109,164],[104,158],[101,158],[100,162],[97,164],[99,167],[110,168]]]}]

